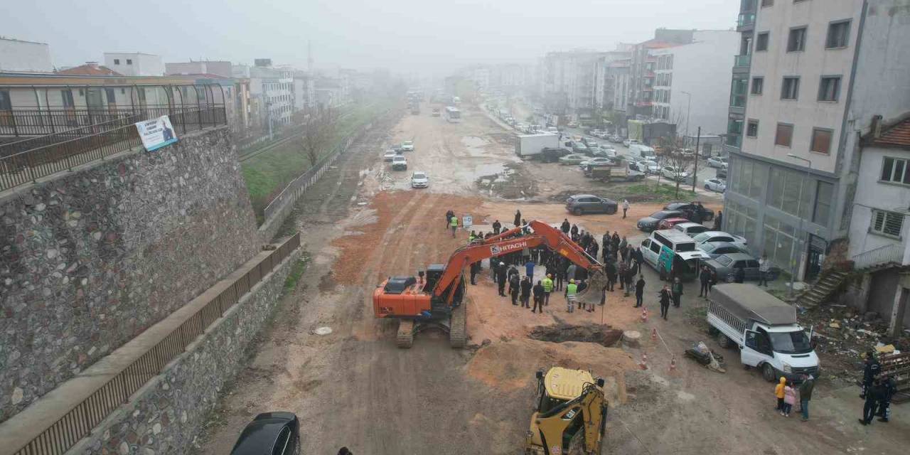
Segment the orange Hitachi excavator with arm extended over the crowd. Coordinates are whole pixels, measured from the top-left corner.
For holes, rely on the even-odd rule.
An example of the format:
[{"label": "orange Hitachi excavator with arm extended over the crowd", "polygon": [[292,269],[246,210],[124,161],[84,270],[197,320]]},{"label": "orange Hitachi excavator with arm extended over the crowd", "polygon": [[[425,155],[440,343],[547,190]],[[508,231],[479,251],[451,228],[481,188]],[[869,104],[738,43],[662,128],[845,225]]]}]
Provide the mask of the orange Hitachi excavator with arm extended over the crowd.
[{"label": "orange Hitachi excavator with arm extended over the crowd", "polygon": [[446,264],[430,264],[426,275],[420,271],[417,278],[389,277],[373,291],[373,311],[377,318],[399,319],[399,348],[410,348],[414,335],[430,328],[447,332],[452,348],[464,348],[468,341],[466,305],[463,304],[464,268],[481,259],[540,246],[588,269],[590,281],[585,291],[602,288],[603,266],[597,259],[591,258],[561,230],[533,220],[525,226],[458,248]]}]

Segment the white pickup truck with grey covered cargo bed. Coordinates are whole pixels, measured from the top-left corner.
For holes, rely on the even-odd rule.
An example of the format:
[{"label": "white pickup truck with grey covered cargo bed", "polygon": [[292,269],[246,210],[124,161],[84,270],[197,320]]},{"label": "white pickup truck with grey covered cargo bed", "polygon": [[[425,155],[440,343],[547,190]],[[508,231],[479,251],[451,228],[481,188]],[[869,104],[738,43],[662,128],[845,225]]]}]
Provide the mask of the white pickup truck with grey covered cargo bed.
[{"label": "white pickup truck with grey covered cargo bed", "polygon": [[716,285],[708,300],[709,331],[722,348],[739,347],[743,365],[773,382],[818,378],[812,333],[796,323],[796,308],[751,284]]}]

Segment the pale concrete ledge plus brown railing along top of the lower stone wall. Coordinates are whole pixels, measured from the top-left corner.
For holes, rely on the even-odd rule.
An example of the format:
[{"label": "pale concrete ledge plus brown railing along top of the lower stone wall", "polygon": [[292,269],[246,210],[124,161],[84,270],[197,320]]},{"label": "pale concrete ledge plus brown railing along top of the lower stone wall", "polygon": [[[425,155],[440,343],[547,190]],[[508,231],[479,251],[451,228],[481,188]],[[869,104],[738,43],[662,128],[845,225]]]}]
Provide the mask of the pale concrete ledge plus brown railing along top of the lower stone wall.
[{"label": "pale concrete ledge plus brown railing along top of the lower stone wall", "polygon": [[[256,286],[262,278],[300,246],[300,233],[288,238],[268,256],[261,258],[242,276],[218,282],[212,289],[222,288],[214,298],[205,302],[190,302],[171,316],[139,334],[116,349],[105,359],[83,373],[61,384],[32,406],[0,424],[0,450],[15,450],[15,455],[62,455],[84,438],[108,414],[129,401],[136,390],[162,369],[227,309]],[[191,314],[181,310],[197,307]],[[186,309],[185,309],[186,308]],[[177,319],[174,321],[173,319]],[[168,323],[180,322],[176,328],[163,332]],[[149,346],[147,349],[141,349]],[[110,378],[104,381],[101,380]]]}]

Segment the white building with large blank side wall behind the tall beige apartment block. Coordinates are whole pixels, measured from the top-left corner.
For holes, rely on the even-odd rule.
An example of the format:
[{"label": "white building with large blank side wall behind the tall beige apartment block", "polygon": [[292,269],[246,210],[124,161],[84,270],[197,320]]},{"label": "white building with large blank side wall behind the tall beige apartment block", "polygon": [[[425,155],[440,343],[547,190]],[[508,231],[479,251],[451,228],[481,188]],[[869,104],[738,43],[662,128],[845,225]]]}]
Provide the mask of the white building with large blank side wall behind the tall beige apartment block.
[{"label": "white building with large blank side wall behind the tall beige apartment block", "polygon": [[723,133],[739,40],[733,30],[696,30],[689,44],[652,49],[652,116],[676,123],[686,136],[699,126],[703,134]]}]

